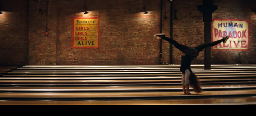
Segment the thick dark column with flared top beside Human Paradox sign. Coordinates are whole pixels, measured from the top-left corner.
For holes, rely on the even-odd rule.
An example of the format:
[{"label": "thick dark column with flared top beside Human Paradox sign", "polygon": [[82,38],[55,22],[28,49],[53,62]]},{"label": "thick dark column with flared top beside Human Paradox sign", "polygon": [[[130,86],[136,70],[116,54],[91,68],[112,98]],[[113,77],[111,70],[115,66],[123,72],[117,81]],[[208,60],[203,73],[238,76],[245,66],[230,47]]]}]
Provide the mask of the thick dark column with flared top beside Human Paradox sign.
[{"label": "thick dark column with flared top beside Human Paradox sign", "polygon": [[[217,9],[217,6],[213,5],[212,1],[203,0],[203,5],[197,6],[197,9],[203,13],[205,43],[211,43],[212,13]],[[204,51],[204,69],[211,69],[211,47],[206,47]]]}]

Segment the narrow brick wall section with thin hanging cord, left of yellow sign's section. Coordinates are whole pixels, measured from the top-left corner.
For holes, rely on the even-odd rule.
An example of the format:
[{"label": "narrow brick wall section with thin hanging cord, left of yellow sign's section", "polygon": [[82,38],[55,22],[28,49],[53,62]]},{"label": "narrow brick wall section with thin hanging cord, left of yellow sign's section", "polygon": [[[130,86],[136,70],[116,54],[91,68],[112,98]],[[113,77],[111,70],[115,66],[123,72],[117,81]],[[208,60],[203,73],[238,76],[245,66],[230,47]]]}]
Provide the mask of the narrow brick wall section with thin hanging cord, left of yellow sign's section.
[{"label": "narrow brick wall section with thin hanging cord, left of yellow sign's section", "polygon": [[[49,0],[48,0],[49,1]],[[56,0],[47,11],[46,0],[29,3],[29,65],[56,65],[57,16]],[[46,23],[46,18],[47,23]],[[46,35],[46,27],[47,32]]]}]

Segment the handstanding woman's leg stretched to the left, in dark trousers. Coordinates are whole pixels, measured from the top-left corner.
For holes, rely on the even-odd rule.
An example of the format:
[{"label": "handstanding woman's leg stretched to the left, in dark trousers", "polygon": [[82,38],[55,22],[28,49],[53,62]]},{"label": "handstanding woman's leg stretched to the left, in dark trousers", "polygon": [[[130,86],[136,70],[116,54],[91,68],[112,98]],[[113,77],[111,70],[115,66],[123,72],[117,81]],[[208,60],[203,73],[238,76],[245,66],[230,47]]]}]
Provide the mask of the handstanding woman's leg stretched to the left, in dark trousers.
[{"label": "handstanding woman's leg stretched to the left, in dark trousers", "polygon": [[185,49],[188,49],[190,47],[179,44],[177,41],[170,39],[169,37],[166,37],[164,33],[160,33],[160,34],[156,34],[154,35],[155,37],[159,37],[160,39],[164,39],[166,41],[168,41],[169,43],[173,44],[174,47],[176,47],[177,49],[179,49],[180,51],[184,51]]}]

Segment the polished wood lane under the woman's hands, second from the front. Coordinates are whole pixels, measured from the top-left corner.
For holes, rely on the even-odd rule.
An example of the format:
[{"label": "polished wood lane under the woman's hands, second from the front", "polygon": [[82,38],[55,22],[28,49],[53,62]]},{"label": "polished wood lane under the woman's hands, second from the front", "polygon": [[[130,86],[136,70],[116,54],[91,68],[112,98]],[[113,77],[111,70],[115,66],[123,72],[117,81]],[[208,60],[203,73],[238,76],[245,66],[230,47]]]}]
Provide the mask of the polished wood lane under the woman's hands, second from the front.
[{"label": "polished wood lane under the woman's hands, second from the front", "polygon": [[184,95],[183,92],[111,92],[111,93],[57,93],[57,92],[44,92],[44,93],[0,93],[1,98],[123,98],[123,97],[172,97],[183,96],[189,98],[190,96],[205,96],[205,95],[238,95],[238,94],[255,94],[256,90],[231,90],[231,91],[205,91],[203,93],[193,93],[192,95]]}]

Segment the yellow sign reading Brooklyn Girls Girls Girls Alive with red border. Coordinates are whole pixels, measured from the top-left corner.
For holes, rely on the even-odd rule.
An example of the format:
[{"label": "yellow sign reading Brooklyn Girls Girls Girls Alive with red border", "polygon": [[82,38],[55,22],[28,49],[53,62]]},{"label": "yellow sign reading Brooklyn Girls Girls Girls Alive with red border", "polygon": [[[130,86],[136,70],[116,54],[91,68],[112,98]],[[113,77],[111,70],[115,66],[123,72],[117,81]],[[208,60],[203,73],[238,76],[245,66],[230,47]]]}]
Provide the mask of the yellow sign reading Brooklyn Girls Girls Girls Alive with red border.
[{"label": "yellow sign reading Brooklyn Girls Girls Girls Alive with red border", "polygon": [[72,48],[99,48],[99,17],[72,18]]}]

